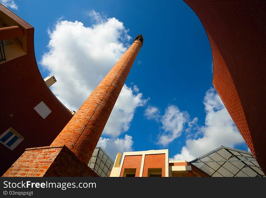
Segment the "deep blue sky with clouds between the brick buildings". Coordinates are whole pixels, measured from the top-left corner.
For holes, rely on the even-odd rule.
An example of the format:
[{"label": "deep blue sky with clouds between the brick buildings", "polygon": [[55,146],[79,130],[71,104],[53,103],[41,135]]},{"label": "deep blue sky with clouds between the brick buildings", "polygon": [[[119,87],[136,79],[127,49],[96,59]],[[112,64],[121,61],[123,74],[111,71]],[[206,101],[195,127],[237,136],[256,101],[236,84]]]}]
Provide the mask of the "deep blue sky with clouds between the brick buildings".
[{"label": "deep blue sky with clouds between the brick buildings", "polygon": [[35,28],[41,74],[55,75],[50,89],[75,111],[143,34],[98,143],[112,158],[169,149],[170,158],[189,161],[221,145],[248,149],[213,89],[206,32],[183,1],[1,2]]}]

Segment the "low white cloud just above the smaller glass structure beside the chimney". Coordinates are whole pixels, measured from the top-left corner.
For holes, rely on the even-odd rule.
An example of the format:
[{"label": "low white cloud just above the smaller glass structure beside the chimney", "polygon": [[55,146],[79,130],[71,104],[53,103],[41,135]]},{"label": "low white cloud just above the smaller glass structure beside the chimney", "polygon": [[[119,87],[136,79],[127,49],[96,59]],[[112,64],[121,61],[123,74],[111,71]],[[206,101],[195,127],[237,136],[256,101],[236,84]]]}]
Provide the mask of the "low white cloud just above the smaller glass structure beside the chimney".
[{"label": "low white cloud just above the smaller glass structure beside the chimney", "polygon": [[115,160],[115,157],[118,152],[130,152],[133,151],[132,145],[133,145],[132,136],[125,135],[124,138],[103,138],[100,137],[99,142],[97,146],[101,146],[105,152],[113,159]]}]

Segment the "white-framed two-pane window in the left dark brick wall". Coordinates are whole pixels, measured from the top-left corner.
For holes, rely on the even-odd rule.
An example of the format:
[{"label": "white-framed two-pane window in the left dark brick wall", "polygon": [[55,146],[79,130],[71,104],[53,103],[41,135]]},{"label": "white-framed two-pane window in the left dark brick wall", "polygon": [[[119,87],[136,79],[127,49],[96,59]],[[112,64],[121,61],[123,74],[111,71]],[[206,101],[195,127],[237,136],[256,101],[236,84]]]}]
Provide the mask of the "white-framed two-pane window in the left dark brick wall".
[{"label": "white-framed two-pane window in the left dark brick wall", "polygon": [[15,149],[23,139],[24,138],[11,127],[0,135],[0,142],[11,150]]}]

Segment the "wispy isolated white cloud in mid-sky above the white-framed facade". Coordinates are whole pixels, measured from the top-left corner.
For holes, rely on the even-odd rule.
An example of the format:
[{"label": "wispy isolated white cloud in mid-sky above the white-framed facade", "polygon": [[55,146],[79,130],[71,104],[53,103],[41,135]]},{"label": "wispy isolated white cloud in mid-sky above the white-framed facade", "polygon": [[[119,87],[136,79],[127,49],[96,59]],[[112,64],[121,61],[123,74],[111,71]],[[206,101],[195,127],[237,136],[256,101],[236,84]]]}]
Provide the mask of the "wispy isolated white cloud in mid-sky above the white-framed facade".
[{"label": "wispy isolated white cloud in mid-sky above the white-framed facade", "polygon": [[168,106],[161,117],[163,125],[161,128],[164,130],[164,133],[159,137],[158,143],[167,146],[181,135],[184,124],[188,121],[189,115],[187,112],[181,112],[175,105]]}]

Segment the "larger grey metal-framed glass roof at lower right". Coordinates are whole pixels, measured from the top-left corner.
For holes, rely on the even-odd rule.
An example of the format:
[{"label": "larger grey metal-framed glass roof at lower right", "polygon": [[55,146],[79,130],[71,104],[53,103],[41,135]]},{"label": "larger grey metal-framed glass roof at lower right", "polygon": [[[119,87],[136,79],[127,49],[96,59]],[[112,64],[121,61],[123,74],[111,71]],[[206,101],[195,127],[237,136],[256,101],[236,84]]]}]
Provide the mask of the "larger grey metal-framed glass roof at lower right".
[{"label": "larger grey metal-framed glass roof at lower right", "polygon": [[190,161],[211,177],[265,177],[251,152],[220,146]]}]

